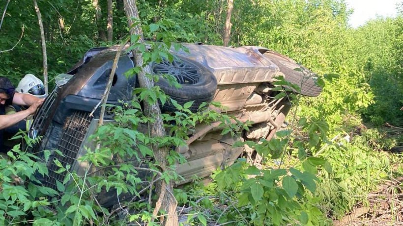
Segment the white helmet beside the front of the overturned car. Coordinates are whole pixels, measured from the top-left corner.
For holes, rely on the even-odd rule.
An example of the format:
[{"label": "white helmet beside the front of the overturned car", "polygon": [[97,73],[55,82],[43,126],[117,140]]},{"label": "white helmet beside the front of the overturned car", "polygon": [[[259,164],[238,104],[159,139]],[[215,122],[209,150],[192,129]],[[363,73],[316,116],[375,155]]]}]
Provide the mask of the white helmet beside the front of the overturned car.
[{"label": "white helmet beside the front of the overturned car", "polygon": [[32,74],[25,75],[15,90],[19,93],[28,93],[38,98],[48,96],[45,92],[43,82]]}]

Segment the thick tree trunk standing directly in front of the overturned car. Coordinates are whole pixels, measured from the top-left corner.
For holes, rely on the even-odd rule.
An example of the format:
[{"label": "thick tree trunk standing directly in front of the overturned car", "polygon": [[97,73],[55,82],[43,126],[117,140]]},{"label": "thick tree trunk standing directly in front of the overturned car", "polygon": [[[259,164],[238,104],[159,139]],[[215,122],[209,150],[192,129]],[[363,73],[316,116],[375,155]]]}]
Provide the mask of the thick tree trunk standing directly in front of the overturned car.
[{"label": "thick tree trunk standing directly in front of the overturned car", "polygon": [[[123,0],[124,3],[124,9],[126,13],[126,17],[128,20],[128,26],[130,28],[130,34],[131,35],[139,35],[140,36],[140,42],[144,42],[143,39],[143,30],[141,28],[140,24],[137,24],[133,26],[135,23],[133,21],[133,18],[139,19],[139,12],[137,10],[136,6],[136,1],[135,0]],[[152,79],[148,78],[146,75],[151,74],[151,67],[150,65],[146,64],[144,65],[143,63],[143,57],[141,55],[142,53],[139,52],[138,50],[134,49],[133,50],[133,55],[134,55],[134,63],[136,66],[142,66],[142,71],[137,75],[139,78],[139,83],[141,87],[145,88],[152,88],[154,86],[154,82]],[[151,132],[152,137],[158,137],[158,136],[164,136],[165,135],[165,129],[164,129],[164,123],[161,118],[161,110],[160,107],[158,106],[158,103],[154,104],[149,104],[146,100],[144,101],[144,114],[148,116],[153,116],[155,119],[154,123],[150,123],[149,126],[149,131]],[[153,152],[154,152],[154,158],[157,164],[159,164],[162,168],[163,171],[165,171],[167,167],[167,162],[166,162],[166,156],[169,152],[168,147],[164,148],[158,148],[157,146],[151,147]],[[164,190],[166,189],[166,190]],[[164,191],[164,192],[162,192]],[[165,226],[177,226],[178,225],[178,217],[176,214],[176,206],[177,206],[177,201],[175,200],[175,197],[173,196],[173,183],[171,182],[169,185],[165,186],[164,182],[160,180],[156,184],[156,192],[158,195],[162,198],[161,201],[161,208],[164,210],[168,216],[166,220],[163,220],[163,224]],[[156,206],[156,209],[158,209],[159,206]]]}]

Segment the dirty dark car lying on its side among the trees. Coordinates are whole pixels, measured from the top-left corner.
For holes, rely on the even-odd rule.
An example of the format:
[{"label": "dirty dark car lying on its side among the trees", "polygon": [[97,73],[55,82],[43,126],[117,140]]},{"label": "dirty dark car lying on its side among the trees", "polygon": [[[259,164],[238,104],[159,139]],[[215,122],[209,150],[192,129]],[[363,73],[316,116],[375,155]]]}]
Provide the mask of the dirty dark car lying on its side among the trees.
[{"label": "dirty dark car lying on its side among the trees", "polygon": [[[275,99],[278,89],[273,89],[276,76],[283,75],[287,81],[299,86],[301,95],[315,97],[321,87],[315,82],[315,75],[296,64],[288,57],[265,48],[249,46],[227,48],[200,44],[183,44],[188,51],[175,51],[173,62],[162,61],[152,65],[156,75],[169,74],[181,85],[175,88],[161,76],[156,85],[179,104],[194,101],[192,111],[202,102],[217,101],[226,113],[240,122],[251,122],[249,131],[242,136],[221,135],[220,123],[197,125],[194,133],[186,141],[186,148],[177,149],[186,157],[187,163],[180,164],[178,174],[190,181],[193,176],[204,177],[218,167],[232,164],[244,151],[243,147],[232,147],[236,141],[271,139],[283,126],[290,109],[287,97]],[[85,153],[91,135],[100,117],[100,109],[90,113],[100,102],[112,71],[116,54],[114,48],[94,48],[86,52],[76,66],[67,74],[71,78],[58,85],[50,93],[34,116],[31,134],[40,136],[34,150],[58,150],[62,155],[53,154],[47,161],[49,176],[43,183],[57,188],[57,181],[63,181],[64,173],[58,173],[58,161],[65,167],[82,172],[78,156]],[[130,100],[133,89],[138,86],[136,77],[126,77],[124,73],[134,67],[130,52],[121,54],[115,71],[108,104],[119,104],[120,100]],[[301,70],[294,70],[299,68]],[[295,91],[295,89],[294,89]],[[167,103],[162,111],[174,111]],[[114,120],[108,114],[105,120]]]}]

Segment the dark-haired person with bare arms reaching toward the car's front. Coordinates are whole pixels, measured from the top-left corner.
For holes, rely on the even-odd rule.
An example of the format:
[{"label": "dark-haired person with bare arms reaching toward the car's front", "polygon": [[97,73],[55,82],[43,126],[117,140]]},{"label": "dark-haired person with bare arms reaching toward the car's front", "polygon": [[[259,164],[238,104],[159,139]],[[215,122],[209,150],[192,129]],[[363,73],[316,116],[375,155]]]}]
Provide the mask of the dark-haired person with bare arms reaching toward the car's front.
[{"label": "dark-haired person with bare arms reaching toward the car's front", "polygon": [[[19,129],[26,130],[24,119],[34,114],[44,99],[28,93],[15,92],[10,79],[0,76],[0,151],[5,152],[10,148],[4,145],[4,139],[15,135]],[[12,114],[7,114],[6,109],[13,104],[27,106]]]}]

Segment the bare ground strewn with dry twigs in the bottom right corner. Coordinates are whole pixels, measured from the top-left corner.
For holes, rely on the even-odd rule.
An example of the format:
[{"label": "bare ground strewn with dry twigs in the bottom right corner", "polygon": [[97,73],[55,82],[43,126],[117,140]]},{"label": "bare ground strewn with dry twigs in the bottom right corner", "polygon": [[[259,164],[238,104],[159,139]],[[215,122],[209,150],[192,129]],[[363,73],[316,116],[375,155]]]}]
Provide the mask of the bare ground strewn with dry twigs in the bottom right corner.
[{"label": "bare ground strewn with dry twigs in the bottom right corner", "polygon": [[367,197],[368,204],[358,203],[354,210],[335,226],[403,226],[403,177],[380,185]]}]

